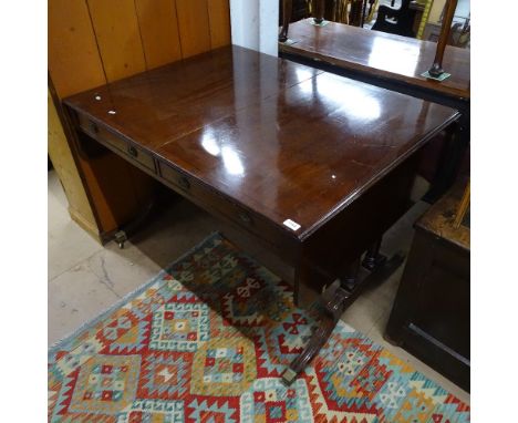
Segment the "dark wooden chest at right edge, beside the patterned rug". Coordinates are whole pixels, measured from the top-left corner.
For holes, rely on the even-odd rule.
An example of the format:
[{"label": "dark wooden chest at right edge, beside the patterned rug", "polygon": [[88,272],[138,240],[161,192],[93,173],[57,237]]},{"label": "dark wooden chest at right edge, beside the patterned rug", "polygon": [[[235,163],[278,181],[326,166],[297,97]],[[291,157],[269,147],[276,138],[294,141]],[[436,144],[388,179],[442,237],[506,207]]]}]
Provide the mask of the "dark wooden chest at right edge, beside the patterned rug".
[{"label": "dark wooden chest at right edge, beside the patterned rug", "polygon": [[456,225],[464,186],[416,223],[386,339],[469,391],[469,227]]}]

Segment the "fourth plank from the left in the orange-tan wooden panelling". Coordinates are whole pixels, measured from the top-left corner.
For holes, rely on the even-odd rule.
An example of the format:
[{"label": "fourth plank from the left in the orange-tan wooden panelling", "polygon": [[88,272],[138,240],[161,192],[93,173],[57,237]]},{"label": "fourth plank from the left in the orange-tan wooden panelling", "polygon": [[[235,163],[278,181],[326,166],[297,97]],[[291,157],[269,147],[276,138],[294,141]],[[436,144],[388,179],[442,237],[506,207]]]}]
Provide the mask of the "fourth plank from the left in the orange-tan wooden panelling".
[{"label": "fourth plank from the left in the orange-tan wooden panelling", "polygon": [[190,58],[210,50],[207,0],[176,0],[182,54]]}]

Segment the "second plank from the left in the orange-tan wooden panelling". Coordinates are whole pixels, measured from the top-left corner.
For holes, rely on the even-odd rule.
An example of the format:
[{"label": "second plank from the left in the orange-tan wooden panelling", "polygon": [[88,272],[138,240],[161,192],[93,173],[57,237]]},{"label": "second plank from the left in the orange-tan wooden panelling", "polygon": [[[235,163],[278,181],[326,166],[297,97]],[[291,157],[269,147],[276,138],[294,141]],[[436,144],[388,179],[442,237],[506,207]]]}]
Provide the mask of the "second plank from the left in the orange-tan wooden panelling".
[{"label": "second plank from the left in the orange-tan wooden panelling", "polygon": [[145,71],[134,0],[89,0],[89,7],[108,82]]}]

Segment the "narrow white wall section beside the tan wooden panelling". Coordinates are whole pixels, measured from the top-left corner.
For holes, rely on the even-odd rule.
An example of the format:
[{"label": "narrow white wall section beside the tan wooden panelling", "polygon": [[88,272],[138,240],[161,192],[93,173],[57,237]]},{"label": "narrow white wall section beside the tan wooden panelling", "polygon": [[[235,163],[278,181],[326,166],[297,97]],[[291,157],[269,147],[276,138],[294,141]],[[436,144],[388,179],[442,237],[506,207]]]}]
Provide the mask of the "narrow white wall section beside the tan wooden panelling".
[{"label": "narrow white wall section beside the tan wooden panelling", "polygon": [[279,0],[230,0],[232,44],[277,56]]}]

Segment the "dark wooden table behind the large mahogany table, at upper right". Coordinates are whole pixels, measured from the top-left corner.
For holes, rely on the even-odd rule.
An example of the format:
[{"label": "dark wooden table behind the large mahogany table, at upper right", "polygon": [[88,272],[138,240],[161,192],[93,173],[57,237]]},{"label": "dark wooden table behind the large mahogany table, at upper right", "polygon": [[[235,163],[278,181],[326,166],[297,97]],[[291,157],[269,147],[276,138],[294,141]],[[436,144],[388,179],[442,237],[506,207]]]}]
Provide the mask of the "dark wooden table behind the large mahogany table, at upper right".
[{"label": "dark wooden table behind the large mahogany table, at upper right", "polygon": [[469,144],[469,50],[446,47],[443,64],[452,76],[438,82],[421,75],[434,62],[437,44],[429,41],[336,22],[317,27],[309,19],[290,25],[290,40],[279,43],[281,58],[457,109],[462,117],[444,144],[426,199],[446,192]]}]

